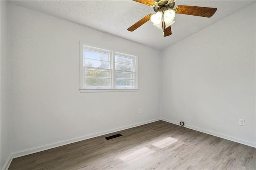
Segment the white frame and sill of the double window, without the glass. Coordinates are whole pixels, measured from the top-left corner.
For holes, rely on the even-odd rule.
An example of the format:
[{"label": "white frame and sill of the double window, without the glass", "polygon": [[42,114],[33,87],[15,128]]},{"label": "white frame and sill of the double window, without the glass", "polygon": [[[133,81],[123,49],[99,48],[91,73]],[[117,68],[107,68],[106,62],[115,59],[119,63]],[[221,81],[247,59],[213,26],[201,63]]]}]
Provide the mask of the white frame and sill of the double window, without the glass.
[{"label": "white frame and sill of the double window, without the glass", "polygon": [[[84,48],[92,51],[108,53],[110,56],[110,87],[84,87],[85,81],[85,66],[84,66]],[[133,59],[134,71],[127,71],[134,73],[134,87],[121,86],[116,87],[116,70],[115,70],[115,56],[128,57]],[[92,67],[92,69],[95,69]],[[97,69],[97,68],[96,68]],[[108,69],[105,69],[108,70]],[[138,91],[138,55],[124,53],[113,49],[106,49],[97,47],[95,45],[89,45],[84,42],[80,42],[80,92],[117,92],[117,91]]]}]

